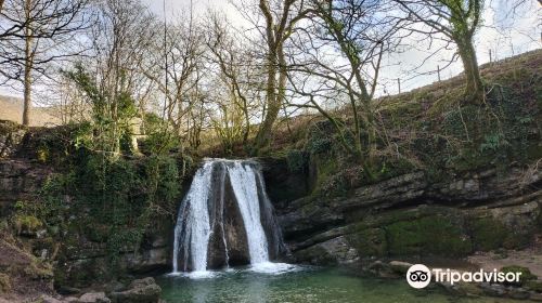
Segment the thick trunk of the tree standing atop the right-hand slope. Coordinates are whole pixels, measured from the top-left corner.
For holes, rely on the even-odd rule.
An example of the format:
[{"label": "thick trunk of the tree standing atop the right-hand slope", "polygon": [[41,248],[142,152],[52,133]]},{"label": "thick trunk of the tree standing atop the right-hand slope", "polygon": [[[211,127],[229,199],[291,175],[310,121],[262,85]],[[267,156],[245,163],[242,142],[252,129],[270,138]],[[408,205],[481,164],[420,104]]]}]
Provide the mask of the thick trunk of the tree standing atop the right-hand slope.
[{"label": "thick trunk of the tree standing atop the right-hand slope", "polygon": [[462,41],[457,41],[457,48],[465,69],[465,102],[478,105],[483,101],[485,91],[473,39],[466,38]]}]

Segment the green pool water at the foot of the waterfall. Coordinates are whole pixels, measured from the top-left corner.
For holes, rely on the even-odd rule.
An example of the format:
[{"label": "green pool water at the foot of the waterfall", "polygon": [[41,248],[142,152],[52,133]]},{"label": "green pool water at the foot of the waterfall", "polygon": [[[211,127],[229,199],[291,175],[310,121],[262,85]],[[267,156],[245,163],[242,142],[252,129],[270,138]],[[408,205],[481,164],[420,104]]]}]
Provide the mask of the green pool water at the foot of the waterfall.
[{"label": "green pool water at the foot of the waterfall", "polygon": [[360,278],[337,268],[296,267],[282,274],[240,268],[199,279],[163,276],[158,282],[168,303],[511,302],[455,298],[439,288],[414,290],[404,280]]}]

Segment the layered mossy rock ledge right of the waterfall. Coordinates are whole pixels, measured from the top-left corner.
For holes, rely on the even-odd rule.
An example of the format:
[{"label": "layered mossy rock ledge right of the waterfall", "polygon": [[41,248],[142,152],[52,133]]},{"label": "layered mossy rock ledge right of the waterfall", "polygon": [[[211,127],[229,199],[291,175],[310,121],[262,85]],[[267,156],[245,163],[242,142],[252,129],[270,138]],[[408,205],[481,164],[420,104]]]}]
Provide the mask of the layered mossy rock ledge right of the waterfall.
[{"label": "layered mossy rock ledge right of the waterfall", "polygon": [[[270,193],[284,186],[274,180],[268,180]],[[541,185],[542,171],[537,169],[485,170],[447,181],[418,171],[344,197],[278,199],[275,208],[296,262],[461,258],[531,243],[542,226]]]}]

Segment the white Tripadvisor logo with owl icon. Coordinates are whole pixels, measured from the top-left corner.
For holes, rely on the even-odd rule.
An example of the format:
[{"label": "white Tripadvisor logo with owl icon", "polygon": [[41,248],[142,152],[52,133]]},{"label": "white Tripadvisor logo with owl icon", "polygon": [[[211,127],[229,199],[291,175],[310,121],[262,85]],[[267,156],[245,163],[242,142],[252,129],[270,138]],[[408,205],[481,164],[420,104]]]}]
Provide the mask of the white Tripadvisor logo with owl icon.
[{"label": "white Tripadvisor logo with owl icon", "polygon": [[454,285],[459,281],[464,282],[519,282],[520,272],[517,273],[502,273],[496,269],[486,272],[479,269],[478,272],[456,272],[442,268],[429,269],[424,264],[412,265],[406,272],[406,281],[413,288],[425,288],[431,281],[431,277],[436,282],[449,282]]}]

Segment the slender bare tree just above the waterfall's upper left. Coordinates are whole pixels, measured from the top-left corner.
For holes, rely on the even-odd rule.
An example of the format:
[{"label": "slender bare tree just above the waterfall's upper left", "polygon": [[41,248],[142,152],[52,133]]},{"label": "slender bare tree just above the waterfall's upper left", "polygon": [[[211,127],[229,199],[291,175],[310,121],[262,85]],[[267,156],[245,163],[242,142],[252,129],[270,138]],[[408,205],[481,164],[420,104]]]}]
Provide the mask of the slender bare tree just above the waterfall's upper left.
[{"label": "slender bare tree just above the waterfall's upper left", "polygon": [[163,116],[179,137],[182,153],[184,141],[197,142],[190,139],[197,134],[190,126],[195,122],[191,121],[195,115],[192,110],[202,109],[198,103],[204,95],[202,78],[206,47],[204,31],[192,12],[177,19],[182,23],[168,24],[165,37],[160,35],[154,40],[153,52],[149,53],[151,60],[145,61],[140,70],[164,96]]}]

